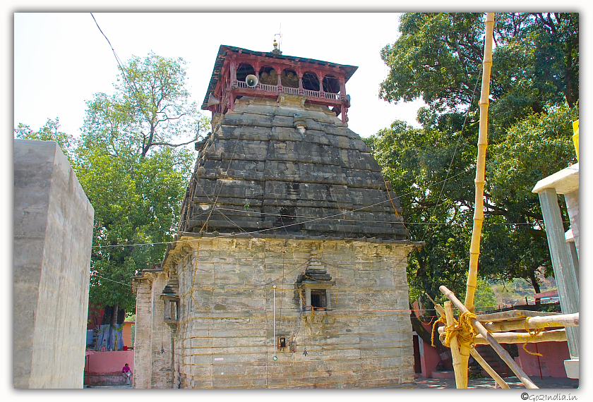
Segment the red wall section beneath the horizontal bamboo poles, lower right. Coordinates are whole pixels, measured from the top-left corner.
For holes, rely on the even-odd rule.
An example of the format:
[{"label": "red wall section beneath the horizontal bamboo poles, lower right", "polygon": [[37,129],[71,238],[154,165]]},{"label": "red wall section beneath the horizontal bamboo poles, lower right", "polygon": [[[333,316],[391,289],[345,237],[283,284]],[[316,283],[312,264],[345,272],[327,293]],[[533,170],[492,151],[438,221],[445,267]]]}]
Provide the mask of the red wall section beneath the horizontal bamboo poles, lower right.
[{"label": "red wall section beneath the horizontal bamboo poles, lower right", "polygon": [[[564,369],[564,360],[570,359],[568,353],[568,342],[539,342],[537,343],[537,352],[543,356],[529,355],[524,349],[523,344],[517,344],[519,349],[518,363],[522,370],[529,377],[566,377],[566,370]],[[536,343],[527,343],[527,350],[530,352],[536,351]],[[539,357],[539,364],[538,364]]]}]

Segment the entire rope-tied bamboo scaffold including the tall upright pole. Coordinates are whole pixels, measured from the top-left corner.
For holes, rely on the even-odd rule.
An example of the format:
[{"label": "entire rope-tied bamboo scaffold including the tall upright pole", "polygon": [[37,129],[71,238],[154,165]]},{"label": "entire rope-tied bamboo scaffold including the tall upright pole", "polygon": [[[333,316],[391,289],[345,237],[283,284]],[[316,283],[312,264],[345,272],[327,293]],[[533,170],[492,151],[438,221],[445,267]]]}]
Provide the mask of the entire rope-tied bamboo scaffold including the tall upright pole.
[{"label": "entire rope-tied bamboo scaffold including the tall upright pole", "polygon": [[[521,367],[501,346],[501,343],[538,343],[547,341],[566,341],[565,327],[576,327],[579,324],[579,313],[554,314],[530,311],[508,311],[489,315],[474,314],[474,294],[477,288],[478,259],[480,253],[481,228],[484,221],[484,184],[486,166],[486,147],[488,145],[488,106],[490,92],[490,71],[492,67],[492,41],[494,13],[486,13],[486,38],[484,45],[484,61],[480,97],[480,122],[478,137],[478,155],[476,169],[476,195],[474,208],[474,226],[472,242],[469,248],[469,272],[465,304],[455,297],[447,287],[439,290],[449,300],[444,307],[435,303],[436,311],[445,322],[438,332],[445,346],[451,348],[455,384],[458,389],[467,388],[469,355],[488,372],[501,388],[509,388],[504,379],[481,358],[474,345],[489,344],[501,359],[508,365],[526,388],[538,388],[525,374]],[[460,314],[455,319],[453,306]],[[436,323],[435,323],[436,324]],[[561,327],[561,329],[550,329]],[[510,332],[524,330],[525,332]],[[531,353],[531,352],[529,352]]]}]

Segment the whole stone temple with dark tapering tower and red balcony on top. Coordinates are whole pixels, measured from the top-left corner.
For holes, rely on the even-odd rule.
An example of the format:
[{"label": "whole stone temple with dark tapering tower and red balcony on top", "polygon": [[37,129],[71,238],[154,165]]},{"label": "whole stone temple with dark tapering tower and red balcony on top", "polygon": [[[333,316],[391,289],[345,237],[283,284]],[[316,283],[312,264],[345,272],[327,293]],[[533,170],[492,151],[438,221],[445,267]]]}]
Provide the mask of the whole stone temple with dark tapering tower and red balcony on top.
[{"label": "whole stone temple with dark tapering tower and red balcony on top", "polygon": [[356,69],[220,47],[175,240],[132,279],[135,388],[412,386],[417,245],[347,126]]}]

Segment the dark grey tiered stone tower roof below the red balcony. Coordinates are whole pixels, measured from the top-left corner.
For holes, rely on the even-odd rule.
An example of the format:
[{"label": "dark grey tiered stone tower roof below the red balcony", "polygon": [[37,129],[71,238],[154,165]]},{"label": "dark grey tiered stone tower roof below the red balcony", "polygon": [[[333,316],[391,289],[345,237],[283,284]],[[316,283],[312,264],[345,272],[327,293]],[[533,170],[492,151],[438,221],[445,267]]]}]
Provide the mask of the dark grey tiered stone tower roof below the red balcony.
[{"label": "dark grey tiered stone tower roof below the red balcony", "polygon": [[408,239],[397,195],[359,135],[305,100],[241,97],[215,115],[178,235]]}]

